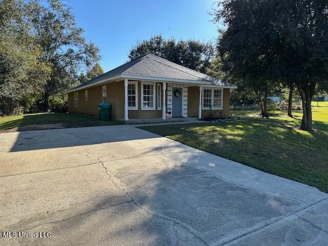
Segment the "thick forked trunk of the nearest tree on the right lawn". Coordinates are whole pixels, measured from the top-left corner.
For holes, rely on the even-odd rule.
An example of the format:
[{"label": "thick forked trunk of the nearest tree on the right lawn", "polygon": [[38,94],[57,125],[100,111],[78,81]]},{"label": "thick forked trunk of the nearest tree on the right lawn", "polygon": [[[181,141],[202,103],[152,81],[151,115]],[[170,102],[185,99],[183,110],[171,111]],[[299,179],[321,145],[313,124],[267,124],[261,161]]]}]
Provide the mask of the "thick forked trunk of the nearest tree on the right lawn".
[{"label": "thick forked trunk of the nearest tree on the right lawn", "polygon": [[314,95],[316,83],[310,83],[309,77],[306,77],[305,84],[298,86],[299,94],[302,99],[303,117],[300,129],[304,131],[313,131],[312,129],[312,97]]}]

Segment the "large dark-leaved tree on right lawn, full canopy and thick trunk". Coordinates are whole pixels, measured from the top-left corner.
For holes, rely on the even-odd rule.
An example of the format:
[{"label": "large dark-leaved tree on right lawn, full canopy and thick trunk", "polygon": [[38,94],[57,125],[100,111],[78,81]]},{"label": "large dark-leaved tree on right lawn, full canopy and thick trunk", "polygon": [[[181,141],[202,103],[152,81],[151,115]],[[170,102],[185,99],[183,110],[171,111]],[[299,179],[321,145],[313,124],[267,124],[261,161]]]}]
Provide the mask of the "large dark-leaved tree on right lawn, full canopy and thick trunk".
[{"label": "large dark-leaved tree on right lawn, full canopy and thick trunk", "polygon": [[224,0],[215,21],[227,24],[219,38],[225,68],[256,84],[295,81],[302,99],[300,129],[312,130],[311,102],[328,78],[327,0]]}]

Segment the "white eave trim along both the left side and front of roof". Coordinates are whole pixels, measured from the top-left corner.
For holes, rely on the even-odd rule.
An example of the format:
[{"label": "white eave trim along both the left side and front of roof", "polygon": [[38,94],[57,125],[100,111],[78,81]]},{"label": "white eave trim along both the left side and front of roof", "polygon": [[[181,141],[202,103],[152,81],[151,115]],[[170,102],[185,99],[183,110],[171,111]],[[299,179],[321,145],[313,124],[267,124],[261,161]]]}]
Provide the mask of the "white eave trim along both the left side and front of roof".
[{"label": "white eave trim along both the left side and front of roof", "polygon": [[117,80],[119,78],[128,78],[128,79],[133,79],[133,80],[144,80],[144,81],[172,82],[172,83],[182,83],[182,84],[187,83],[187,84],[193,84],[193,85],[202,85],[203,87],[237,89],[237,86],[217,86],[217,85],[213,85],[212,82],[210,82],[210,81],[175,79],[175,78],[160,78],[160,77],[148,77],[148,76],[137,76],[137,75],[129,75],[129,74],[119,74],[119,75],[116,75],[116,76],[113,76],[113,77],[101,79],[101,80],[99,80],[99,81],[97,81],[97,82],[95,82],[91,85],[81,86],[81,87],[76,88],[76,89],[73,88],[71,90],[66,91],[65,94],[75,92],[75,91],[79,91],[79,90],[83,90],[83,89],[90,88],[90,87],[94,87],[94,86],[98,86],[98,85],[104,84],[107,81]]}]

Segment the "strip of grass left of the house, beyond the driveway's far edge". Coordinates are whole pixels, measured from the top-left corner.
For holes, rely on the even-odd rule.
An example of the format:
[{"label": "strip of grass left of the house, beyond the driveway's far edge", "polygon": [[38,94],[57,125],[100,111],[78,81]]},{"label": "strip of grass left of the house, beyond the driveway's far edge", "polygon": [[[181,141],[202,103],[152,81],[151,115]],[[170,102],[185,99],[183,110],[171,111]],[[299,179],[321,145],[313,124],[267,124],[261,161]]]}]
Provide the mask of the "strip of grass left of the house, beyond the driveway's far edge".
[{"label": "strip of grass left of the house, beyond the driveway's far edge", "polygon": [[115,120],[73,113],[39,113],[0,117],[0,132],[119,125]]}]

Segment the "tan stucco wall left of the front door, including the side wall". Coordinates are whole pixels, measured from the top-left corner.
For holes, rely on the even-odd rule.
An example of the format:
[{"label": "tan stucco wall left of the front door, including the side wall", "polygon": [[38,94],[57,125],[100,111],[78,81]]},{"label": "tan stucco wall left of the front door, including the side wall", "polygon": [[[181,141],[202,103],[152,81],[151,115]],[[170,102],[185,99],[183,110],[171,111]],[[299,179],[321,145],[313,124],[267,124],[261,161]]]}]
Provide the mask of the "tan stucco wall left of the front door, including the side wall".
[{"label": "tan stucco wall left of the front door, including the side wall", "polygon": [[[162,83],[159,83],[162,84]],[[112,104],[113,119],[124,118],[124,81],[106,84],[107,103]],[[156,90],[156,110],[141,110],[141,83],[138,81],[138,110],[129,110],[131,119],[161,118],[162,111],[157,110],[157,85]],[[161,90],[161,98],[163,92]],[[101,86],[88,88],[88,100],[84,98],[85,90],[78,91],[78,108],[74,108],[74,93],[68,94],[68,112],[99,115],[98,104],[102,102]],[[162,99],[161,99],[162,100]]]}]

